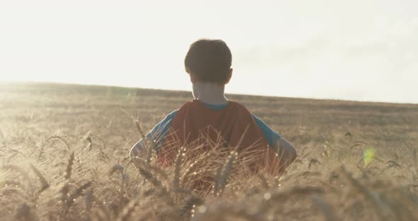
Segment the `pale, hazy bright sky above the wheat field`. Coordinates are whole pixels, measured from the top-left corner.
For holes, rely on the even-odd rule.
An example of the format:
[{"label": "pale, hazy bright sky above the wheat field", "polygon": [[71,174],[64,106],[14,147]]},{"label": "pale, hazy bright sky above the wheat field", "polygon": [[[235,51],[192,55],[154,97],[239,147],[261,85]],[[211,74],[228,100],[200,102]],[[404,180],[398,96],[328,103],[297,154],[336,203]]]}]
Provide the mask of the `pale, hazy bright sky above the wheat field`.
[{"label": "pale, hazy bright sky above the wheat field", "polygon": [[0,81],[190,91],[199,38],[230,94],[418,103],[418,1],[0,1]]}]

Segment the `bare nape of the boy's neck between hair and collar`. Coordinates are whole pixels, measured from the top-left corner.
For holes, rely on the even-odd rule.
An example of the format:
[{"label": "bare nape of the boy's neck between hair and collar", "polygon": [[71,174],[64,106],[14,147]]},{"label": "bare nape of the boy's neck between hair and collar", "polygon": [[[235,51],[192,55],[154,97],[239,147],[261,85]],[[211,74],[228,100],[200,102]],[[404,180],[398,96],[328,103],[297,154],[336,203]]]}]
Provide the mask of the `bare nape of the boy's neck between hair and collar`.
[{"label": "bare nape of the boy's neck between hair and collar", "polygon": [[225,85],[196,82],[193,84],[193,96],[198,101],[204,103],[221,105],[226,104],[228,99],[225,97]]}]

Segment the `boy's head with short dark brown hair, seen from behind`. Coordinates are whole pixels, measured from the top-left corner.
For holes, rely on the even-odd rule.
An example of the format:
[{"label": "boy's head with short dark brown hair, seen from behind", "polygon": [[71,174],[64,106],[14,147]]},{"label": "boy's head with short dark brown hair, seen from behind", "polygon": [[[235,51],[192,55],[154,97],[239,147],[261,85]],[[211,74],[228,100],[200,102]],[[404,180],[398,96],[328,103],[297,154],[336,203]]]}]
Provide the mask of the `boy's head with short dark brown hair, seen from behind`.
[{"label": "boy's head with short dark brown hair, seen from behind", "polygon": [[184,67],[198,81],[225,84],[232,64],[230,48],[223,40],[200,39],[190,45]]}]

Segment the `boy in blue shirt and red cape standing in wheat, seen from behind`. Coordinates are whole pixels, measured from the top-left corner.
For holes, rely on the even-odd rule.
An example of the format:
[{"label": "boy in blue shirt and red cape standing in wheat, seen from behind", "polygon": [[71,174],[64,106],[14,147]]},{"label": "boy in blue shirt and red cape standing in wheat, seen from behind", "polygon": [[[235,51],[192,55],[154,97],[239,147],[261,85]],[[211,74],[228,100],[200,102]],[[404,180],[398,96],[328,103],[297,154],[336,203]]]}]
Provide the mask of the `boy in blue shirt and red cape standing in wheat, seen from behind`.
[{"label": "boy in blue shirt and red cape standing in wheat, seen from behind", "polygon": [[[176,148],[171,151],[172,146],[186,147],[191,142],[199,145],[202,142],[195,141],[204,136],[217,140],[224,147],[251,147],[256,148],[256,152],[266,152],[269,157],[261,160],[271,161],[267,164],[275,167],[269,171],[283,171],[293,162],[296,151],[288,141],[244,106],[225,97],[225,84],[232,77],[231,64],[230,49],[222,40],[202,39],[191,44],[184,66],[195,99],[167,115],[148,133],[149,140],[155,140],[158,162],[172,165],[178,152]],[[142,146],[142,140],[137,142],[130,157],[137,157]],[[198,148],[210,147],[203,145]]]}]

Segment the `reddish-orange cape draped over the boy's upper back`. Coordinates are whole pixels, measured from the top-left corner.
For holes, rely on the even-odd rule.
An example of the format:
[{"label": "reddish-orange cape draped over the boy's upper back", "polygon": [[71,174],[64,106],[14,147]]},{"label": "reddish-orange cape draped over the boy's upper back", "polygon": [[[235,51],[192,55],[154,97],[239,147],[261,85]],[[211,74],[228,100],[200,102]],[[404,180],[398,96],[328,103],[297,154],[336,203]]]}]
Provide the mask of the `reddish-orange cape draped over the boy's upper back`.
[{"label": "reddish-orange cape draped over the boy's upper back", "polygon": [[213,145],[237,147],[237,150],[269,145],[252,114],[241,104],[228,101],[225,108],[214,110],[193,100],[183,104],[176,113],[159,157],[170,163],[178,147],[192,143],[193,147],[205,151],[211,146],[208,138]]}]

